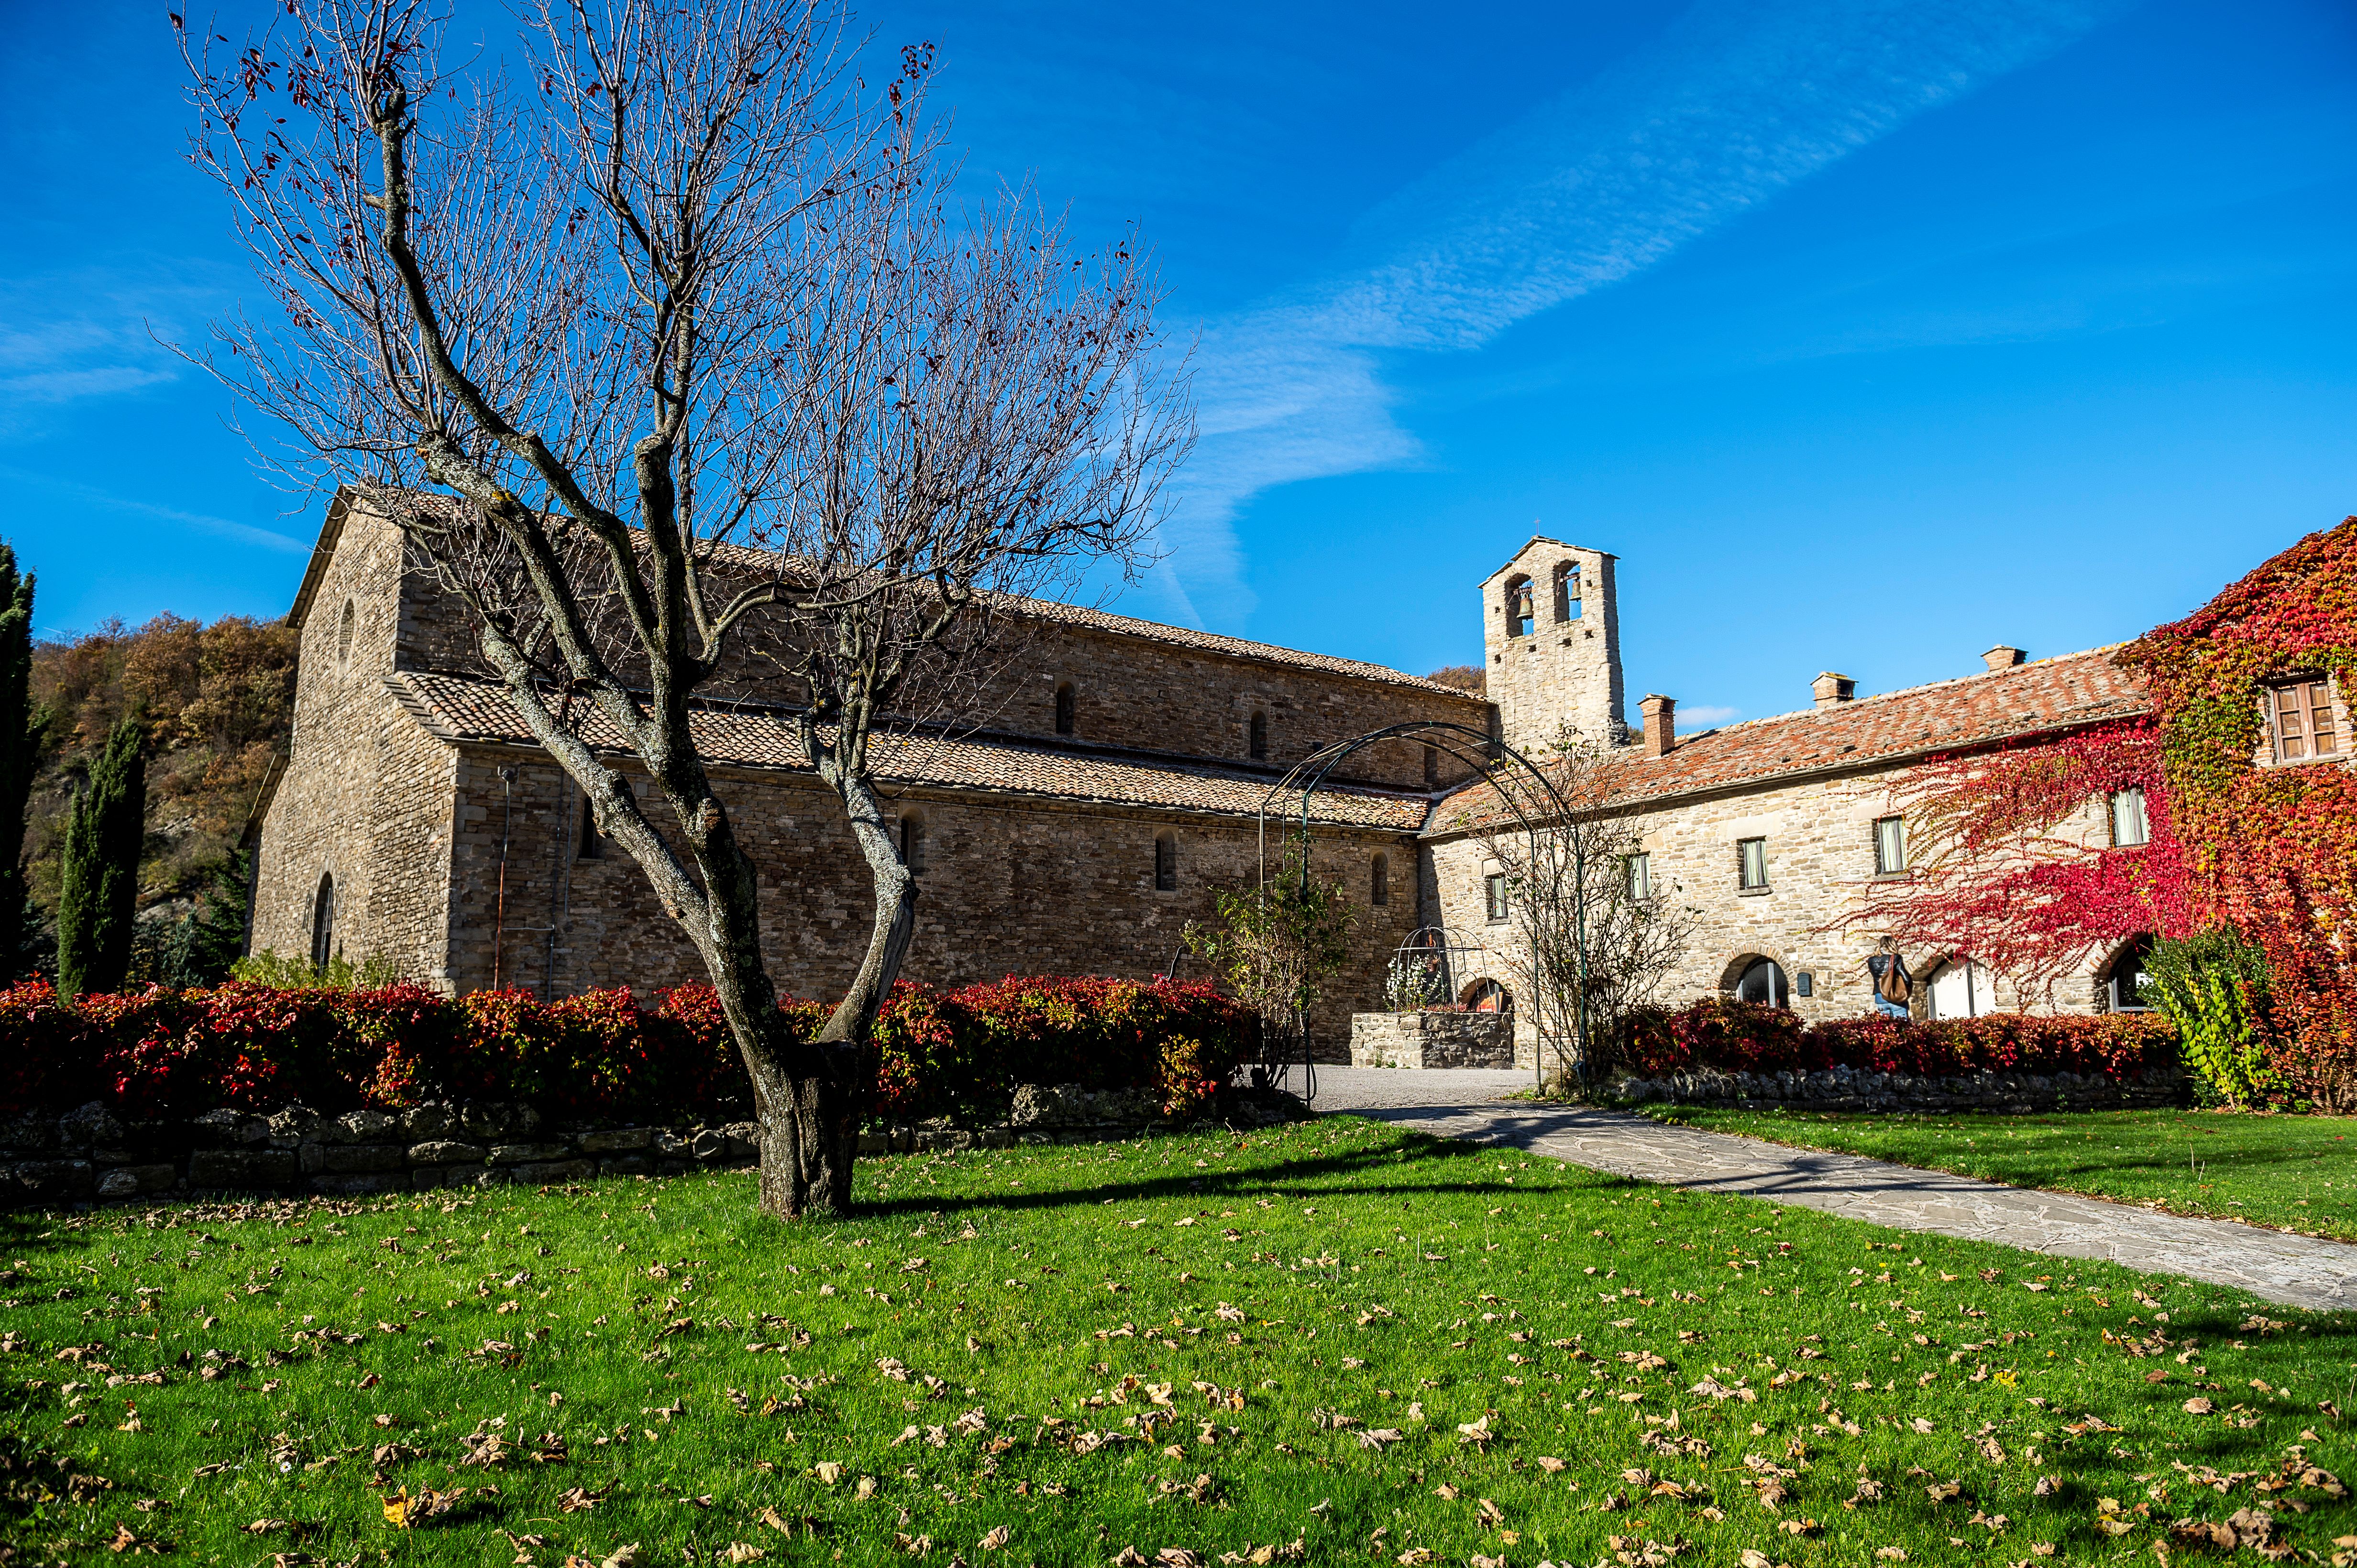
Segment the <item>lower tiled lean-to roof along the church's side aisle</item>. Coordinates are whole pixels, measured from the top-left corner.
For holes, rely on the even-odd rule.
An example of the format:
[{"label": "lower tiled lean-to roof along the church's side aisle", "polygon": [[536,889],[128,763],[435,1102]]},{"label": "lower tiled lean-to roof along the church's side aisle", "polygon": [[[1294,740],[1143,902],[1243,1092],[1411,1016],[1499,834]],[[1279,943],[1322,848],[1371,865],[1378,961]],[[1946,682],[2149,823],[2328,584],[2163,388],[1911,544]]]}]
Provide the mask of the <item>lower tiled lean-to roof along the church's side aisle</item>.
[{"label": "lower tiled lean-to roof along the church's side aisle", "polygon": [[[533,746],[533,732],[507,687],[464,676],[405,671],[387,685],[427,730],[450,742]],[[575,711],[580,716],[580,711]],[[717,768],[811,772],[792,718],[773,709],[698,709],[695,746]],[[592,746],[622,751],[610,720],[592,709],[582,732]],[[886,784],[919,789],[988,789],[1044,800],[1136,805],[1176,812],[1254,817],[1299,815],[1299,798],[1270,800],[1273,775],[1167,758],[1105,756],[1070,742],[1006,735],[877,735],[874,772]],[[1310,822],[1414,833],[1431,798],[1407,791],[1327,786],[1310,798]]]}]

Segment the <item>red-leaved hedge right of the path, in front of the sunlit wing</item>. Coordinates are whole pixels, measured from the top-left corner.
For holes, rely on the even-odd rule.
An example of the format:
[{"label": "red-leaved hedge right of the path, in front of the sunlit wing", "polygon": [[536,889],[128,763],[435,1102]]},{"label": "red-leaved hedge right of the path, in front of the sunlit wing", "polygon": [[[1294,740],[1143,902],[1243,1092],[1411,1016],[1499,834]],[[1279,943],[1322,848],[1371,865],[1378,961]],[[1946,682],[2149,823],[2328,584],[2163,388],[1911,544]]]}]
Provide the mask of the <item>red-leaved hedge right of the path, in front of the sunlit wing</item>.
[{"label": "red-leaved hedge right of the path, in front of the sunlit wing", "polygon": [[1622,1062],[1645,1076],[1702,1067],[1751,1074],[1857,1067],[1926,1078],[1978,1071],[2135,1078],[2176,1059],[2178,1036],[2152,1012],[1989,1012],[1937,1022],[1869,1015],[1808,1024],[1787,1008],[1706,998],[1676,1012],[1638,1010],[1622,1041]]}]

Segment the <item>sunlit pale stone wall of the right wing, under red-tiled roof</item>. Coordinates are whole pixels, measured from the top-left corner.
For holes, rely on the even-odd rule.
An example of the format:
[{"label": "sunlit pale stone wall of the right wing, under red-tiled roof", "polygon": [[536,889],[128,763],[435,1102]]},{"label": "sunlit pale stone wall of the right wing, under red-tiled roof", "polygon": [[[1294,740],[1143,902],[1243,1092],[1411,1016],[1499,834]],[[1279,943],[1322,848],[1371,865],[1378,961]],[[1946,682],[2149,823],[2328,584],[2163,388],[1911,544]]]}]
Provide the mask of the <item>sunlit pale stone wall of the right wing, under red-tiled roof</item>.
[{"label": "sunlit pale stone wall of the right wing, under red-tiled roof", "polygon": [[[1810,1019],[1855,1017],[1874,1010],[1864,961],[1876,932],[1838,928],[1874,883],[1874,819],[1893,810],[1890,772],[1817,779],[1716,798],[1692,798],[1652,810],[1631,822],[1631,838],[1650,857],[1652,883],[1664,902],[1695,911],[1695,939],[1685,961],[1657,994],[1664,1005],[1728,991],[1754,958],[1775,958],[1791,982],[1791,1008]],[[2095,843],[2105,831],[2105,808],[2093,803],[2058,836]],[[1739,885],[1737,843],[1765,838],[1768,888]],[[1513,918],[1492,923],[1483,902],[1483,876],[1494,869],[1478,838],[1428,841],[1424,871],[1442,921],[1459,939],[1490,944],[1487,972],[1513,989],[1513,951],[1520,942]],[[1937,954],[1904,954],[1916,977],[1914,1010],[1928,1015],[1928,979]],[[2100,963],[2100,961],[2098,961]],[[2058,1012],[2093,1012],[2098,963],[2055,986]],[[1798,977],[1810,994],[1798,994]],[[1459,984],[1464,977],[1459,977]],[[2048,1010],[2044,996],[2029,998]],[[1996,986],[1996,1008],[2020,1003],[2011,984]],[[1525,1010],[1527,1012],[1527,1010]],[[1527,1029],[1525,1029],[1527,1034]],[[1527,1043],[1525,1043],[1527,1052]]]}]

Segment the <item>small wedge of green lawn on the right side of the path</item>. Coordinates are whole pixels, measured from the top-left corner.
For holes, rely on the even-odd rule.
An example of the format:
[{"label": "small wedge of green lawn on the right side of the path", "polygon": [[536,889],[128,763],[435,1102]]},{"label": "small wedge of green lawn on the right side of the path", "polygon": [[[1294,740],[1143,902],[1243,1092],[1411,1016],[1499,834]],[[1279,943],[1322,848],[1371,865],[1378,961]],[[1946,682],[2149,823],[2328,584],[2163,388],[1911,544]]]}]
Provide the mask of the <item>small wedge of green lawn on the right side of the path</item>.
[{"label": "small wedge of green lawn on the right side of the path", "polygon": [[2357,1116],[1643,1109],[1711,1132],[2357,1241]]}]

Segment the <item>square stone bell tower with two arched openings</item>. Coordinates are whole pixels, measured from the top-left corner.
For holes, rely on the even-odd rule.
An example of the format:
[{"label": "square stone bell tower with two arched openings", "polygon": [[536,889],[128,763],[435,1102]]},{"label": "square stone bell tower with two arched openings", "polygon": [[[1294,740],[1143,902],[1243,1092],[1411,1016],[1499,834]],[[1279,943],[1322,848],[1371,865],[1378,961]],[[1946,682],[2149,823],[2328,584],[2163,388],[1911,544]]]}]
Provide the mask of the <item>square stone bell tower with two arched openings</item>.
[{"label": "square stone bell tower with two arched openings", "polygon": [[1626,737],[1612,563],[1541,534],[1480,586],[1490,702],[1516,751],[1551,746],[1565,723],[1607,746]]}]

